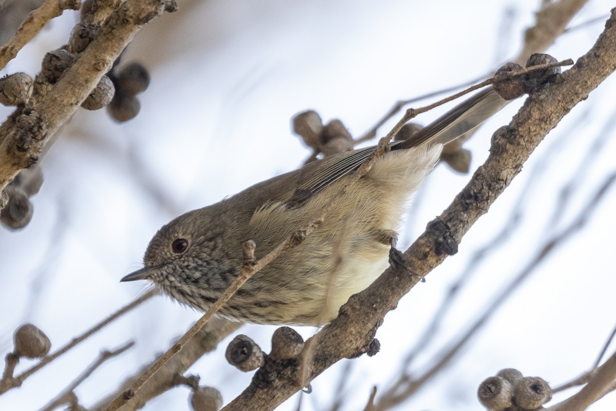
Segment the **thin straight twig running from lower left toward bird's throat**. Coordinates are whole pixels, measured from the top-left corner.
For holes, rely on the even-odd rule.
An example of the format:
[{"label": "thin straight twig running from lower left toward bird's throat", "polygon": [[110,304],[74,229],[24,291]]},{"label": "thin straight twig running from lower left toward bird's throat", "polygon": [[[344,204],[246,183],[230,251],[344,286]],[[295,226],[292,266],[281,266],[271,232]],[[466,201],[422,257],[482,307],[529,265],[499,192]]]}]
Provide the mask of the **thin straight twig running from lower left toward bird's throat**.
[{"label": "thin straight twig running from lower left toward bird's throat", "polygon": [[2,380],[0,380],[0,394],[6,393],[6,391],[8,391],[9,389],[16,388],[16,387],[22,385],[23,381],[26,378],[30,377],[30,375],[32,375],[33,373],[37,372],[38,370],[40,370],[41,368],[43,368],[45,365],[49,364],[50,362],[54,361],[57,357],[59,357],[62,354],[66,353],[69,349],[71,349],[74,346],[76,346],[79,343],[81,343],[81,341],[86,340],[86,338],[88,338],[88,337],[91,337],[92,335],[94,335],[94,333],[96,333],[99,330],[103,329],[103,327],[107,326],[108,324],[111,324],[111,322],[115,321],[119,317],[121,317],[124,314],[128,313],[129,311],[131,311],[131,309],[133,309],[136,306],[140,305],[144,301],[149,300],[155,294],[156,294],[156,292],[154,290],[152,290],[150,292],[147,292],[144,295],[142,295],[141,297],[139,297],[136,300],[134,300],[131,303],[129,303],[128,305],[125,305],[122,308],[118,309],[118,311],[116,311],[115,313],[111,314],[110,316],[108,316],[103,321],[99,322],[98,324],[94,325],[94,327],[92,327],[91,329],[87,330],[83,334],[79,335],[79,337],[73,338],[73,340],[71,340],[67,345],[65,345],[62,348],[58,349],[57,351],[55,351],[55,353],[53,353],[53,354],[51,354],[51,355],[49,355],[47,357],[44,357],[41,361],[38,362],[38,364],[33,365],[33,367],[31,367],[30,369],[25,370],[20,375],[17,375],[17,377],[2,378]]}]

